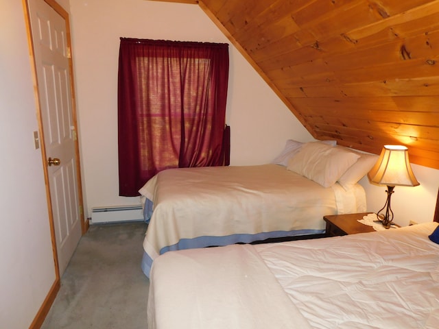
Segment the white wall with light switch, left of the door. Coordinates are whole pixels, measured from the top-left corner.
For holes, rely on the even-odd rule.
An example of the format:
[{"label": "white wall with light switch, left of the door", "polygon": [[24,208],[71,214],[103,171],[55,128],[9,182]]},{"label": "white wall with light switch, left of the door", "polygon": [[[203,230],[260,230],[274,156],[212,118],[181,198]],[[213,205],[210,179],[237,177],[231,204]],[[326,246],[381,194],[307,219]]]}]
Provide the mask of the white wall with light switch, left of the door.
[{"label": "white wall with light switch, left of the door", "polygon": [[28,328],[55,281],[21,1],[0,0],[0,327]]}]

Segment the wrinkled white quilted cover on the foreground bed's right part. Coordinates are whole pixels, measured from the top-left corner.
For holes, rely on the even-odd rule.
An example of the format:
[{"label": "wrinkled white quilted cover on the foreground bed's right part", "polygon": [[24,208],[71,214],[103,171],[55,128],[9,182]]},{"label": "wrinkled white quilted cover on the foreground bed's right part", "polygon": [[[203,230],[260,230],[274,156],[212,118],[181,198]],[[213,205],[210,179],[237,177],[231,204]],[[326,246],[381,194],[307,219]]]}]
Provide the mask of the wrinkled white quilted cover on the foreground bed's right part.
[{"label": "wrinkled white quilted cover on the foreground bed's right part", "polygon": [[257,245],[313,328],[439,328],[438,223]]}]

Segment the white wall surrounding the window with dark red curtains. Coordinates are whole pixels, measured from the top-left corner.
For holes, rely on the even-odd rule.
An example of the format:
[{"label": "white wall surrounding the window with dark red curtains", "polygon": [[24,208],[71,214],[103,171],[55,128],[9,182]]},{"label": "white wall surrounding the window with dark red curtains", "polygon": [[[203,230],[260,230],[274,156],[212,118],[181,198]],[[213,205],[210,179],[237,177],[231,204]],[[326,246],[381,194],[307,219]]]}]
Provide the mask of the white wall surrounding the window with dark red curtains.
[{"label": "white wall surrounding the window with dark red curtains", "polygon": [[[228,42],[198,5],[145,0],[71,1],[84,198],[95,206],[139,204],[119,197],[117,60],[119,38]],[[230,43],[230,42],[228,42]],[[268,162],[287,138],[311,140],[272,90],[230,45],[226,121],[231,164]]]}]

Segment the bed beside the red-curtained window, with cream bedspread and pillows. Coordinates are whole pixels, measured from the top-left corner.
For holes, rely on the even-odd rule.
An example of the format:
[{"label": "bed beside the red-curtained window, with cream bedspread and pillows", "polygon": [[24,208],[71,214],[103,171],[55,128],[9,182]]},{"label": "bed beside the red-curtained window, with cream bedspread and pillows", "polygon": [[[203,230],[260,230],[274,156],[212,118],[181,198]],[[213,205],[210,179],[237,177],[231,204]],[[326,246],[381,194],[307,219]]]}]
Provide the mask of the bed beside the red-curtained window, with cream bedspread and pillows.
[{"label": "bed beside the red-curtained window, with cream bedspread and pillows", "polygon": [[148,181],[140,191],[149,221],[145,275],[171,250],[323,234],[324,215],[366,211],[357,181],[374,157],[295,143],[294,157],[284,156],[284,164],[168,169]]}]

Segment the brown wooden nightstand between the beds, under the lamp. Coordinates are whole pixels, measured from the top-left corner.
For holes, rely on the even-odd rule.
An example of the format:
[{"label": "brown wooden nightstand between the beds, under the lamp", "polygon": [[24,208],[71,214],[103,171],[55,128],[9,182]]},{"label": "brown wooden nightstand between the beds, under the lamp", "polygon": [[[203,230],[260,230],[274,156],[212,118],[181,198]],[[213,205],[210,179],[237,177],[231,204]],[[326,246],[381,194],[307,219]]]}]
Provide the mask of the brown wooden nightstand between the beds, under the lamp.
[{"label": "brown wooden nightstand between the beds, under the lamp", "polygon": [[359,219],[363,219],[363,217],[368,214],[370,214],[370,212],[324,216],[323,219],[327,222],[326,236],[341,236],[364,232],[375,232],[372,226],[364,225],[358,221]]}]

